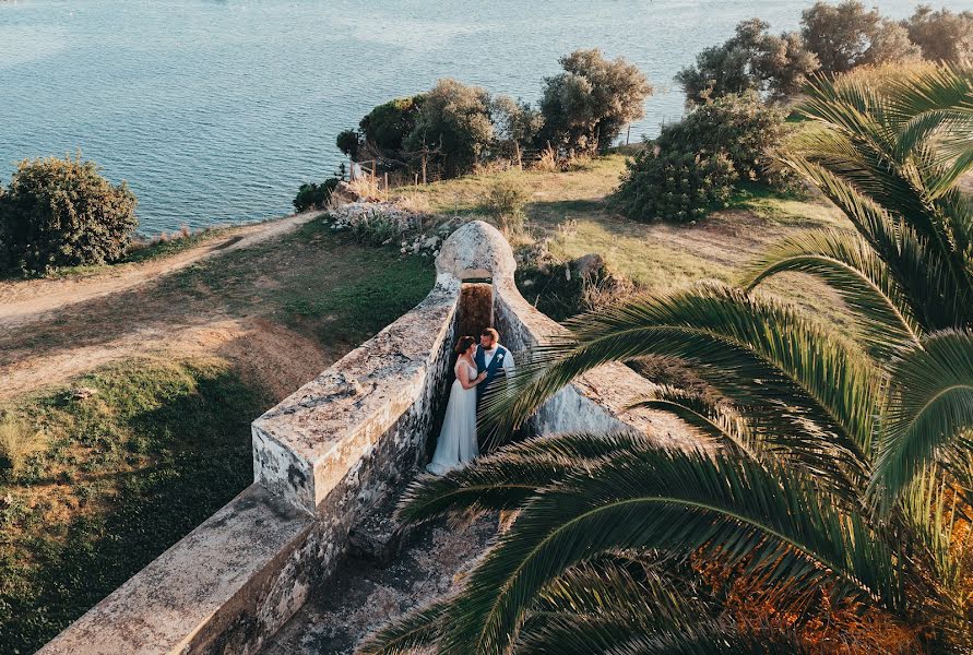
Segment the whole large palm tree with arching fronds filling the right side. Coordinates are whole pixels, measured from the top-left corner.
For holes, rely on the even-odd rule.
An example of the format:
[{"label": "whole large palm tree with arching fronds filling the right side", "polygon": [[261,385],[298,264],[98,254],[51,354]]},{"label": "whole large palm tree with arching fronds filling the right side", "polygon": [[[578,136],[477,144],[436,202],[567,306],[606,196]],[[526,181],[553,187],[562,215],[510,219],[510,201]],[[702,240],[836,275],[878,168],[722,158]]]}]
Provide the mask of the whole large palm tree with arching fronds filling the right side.
[{"label": "whole large palm tree with arching fronds filling the right side", "polygon": [[[819,276],[861,320],[864,348],[759,291],[717,285],[570,322],[493,398],[498,429],[588,370],[665,355],[689,360],[721,400],[660,388],[636,402],[676,413],[699,448],[661,450],[637,434],[539,437],[422,479],[405,521],[518,513],[455,596],[363,652],[840,652],[805,639],[822,602],[870,621],[832,631],[852,640],[845,652],[973,648],[962,493],[973,235],[956,188],[973,165],[971,86],[952,69],[882,93],[819,82],[804,107],[819,129],[782,155],[858,236],[785,243],[747,286],[782,271]],[[723,582],[702,584],[707,567]],[[727,592],[740,584],[746,603],[787,621],[741,620]],[[854,642],[883,636],[894,643]]]}]

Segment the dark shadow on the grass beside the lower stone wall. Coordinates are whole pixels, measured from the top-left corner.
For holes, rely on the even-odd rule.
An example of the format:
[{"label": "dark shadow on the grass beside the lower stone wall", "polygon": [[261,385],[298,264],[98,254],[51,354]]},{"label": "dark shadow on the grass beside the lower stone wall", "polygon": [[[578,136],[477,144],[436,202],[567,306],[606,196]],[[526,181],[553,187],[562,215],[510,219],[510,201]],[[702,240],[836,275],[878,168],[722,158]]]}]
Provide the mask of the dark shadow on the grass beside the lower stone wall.
[{"label": "dark shadow on the grass beside the lower stone wall", "polygon": [[[194,373],[190,389],[151,390],[154,408],[119,410],[115,446],[150,453],[146,466],[84,477],[104,492],[97,507],[60,537],[37,531],[4,549],[0,652],[34,652],[252,481],[250,421],[266,398],[232,371]],[[83,414],[71,404],[69,416]]]}]

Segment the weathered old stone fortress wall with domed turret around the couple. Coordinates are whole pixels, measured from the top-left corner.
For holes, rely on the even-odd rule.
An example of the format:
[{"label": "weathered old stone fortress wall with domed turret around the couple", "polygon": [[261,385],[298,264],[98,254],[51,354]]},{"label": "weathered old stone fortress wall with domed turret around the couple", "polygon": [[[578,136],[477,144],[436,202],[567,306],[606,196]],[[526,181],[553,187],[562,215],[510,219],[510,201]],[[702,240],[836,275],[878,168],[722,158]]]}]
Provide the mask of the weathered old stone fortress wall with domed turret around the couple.
[{"label": "weathered old stone fortress wall with domed turret around the couple", "polygon": [[[563,330],[523,299],[514,267],[494,227],[453,233],[423,302],[253,421],[253,484],[39,653],[258,653],[341,565],[349,532],[428,461],[455,338],[493,324],[517,358]],[[624,409],[648,385],[622,366],[602,367],[531,428],[685,443],[674,419]]]}]

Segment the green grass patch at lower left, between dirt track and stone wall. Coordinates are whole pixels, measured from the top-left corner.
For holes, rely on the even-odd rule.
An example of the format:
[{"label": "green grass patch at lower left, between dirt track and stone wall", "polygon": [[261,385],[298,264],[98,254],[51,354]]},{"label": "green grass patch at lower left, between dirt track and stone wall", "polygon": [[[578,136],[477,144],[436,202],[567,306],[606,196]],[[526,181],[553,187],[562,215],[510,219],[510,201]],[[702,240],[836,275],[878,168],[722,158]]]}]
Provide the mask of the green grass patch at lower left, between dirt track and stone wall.
[{"label": "green grass patch at lower left, between dirt track and stone wall", "polygon": [[0,653],[32,653],[252,480],[270,401],[221,360],[131,360],[3,409],[44,430],[0,472]]}]

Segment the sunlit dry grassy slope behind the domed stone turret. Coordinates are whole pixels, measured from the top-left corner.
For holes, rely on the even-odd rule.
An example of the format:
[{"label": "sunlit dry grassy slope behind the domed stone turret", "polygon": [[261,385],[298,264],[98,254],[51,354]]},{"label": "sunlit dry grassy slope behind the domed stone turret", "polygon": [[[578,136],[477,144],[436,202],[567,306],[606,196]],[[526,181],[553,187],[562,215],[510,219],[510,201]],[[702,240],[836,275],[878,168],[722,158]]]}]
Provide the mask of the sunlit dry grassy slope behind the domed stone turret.
[{"label": "sunlit dry grassy slope behind the domed stone turret", "polygon": [[[761,187],[736,193],[731,207],[696,225],[638,223],[615,212],[610,193],[625,170],[622,154],[582,163],[567,172],[502,171],[408,189],[405,196],[417,209],[442,214],[486,216],[489,189],[497,183],[520,184],[530,193],[526,206],[529,238],[548,238],[556,260],[602,254],[609,269],[646,291],[665,291],[703,279],[733,283],[743,269],[782,238],[818,228],[851,229],[847,219],[820,198],[781,194]],[[802,275],[782,275],[763,289],[788,288],[821,320],[854,329],[840,299],[827,287]],[[536,287],[523,288],[532,301]],[[543,306],[543,298],[541,299]]]}]

